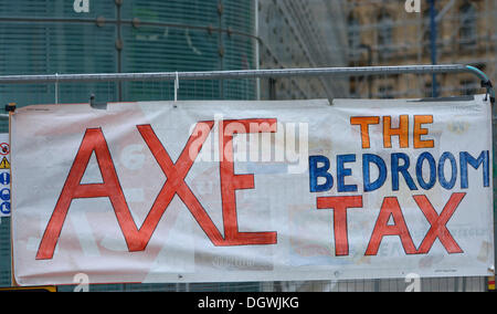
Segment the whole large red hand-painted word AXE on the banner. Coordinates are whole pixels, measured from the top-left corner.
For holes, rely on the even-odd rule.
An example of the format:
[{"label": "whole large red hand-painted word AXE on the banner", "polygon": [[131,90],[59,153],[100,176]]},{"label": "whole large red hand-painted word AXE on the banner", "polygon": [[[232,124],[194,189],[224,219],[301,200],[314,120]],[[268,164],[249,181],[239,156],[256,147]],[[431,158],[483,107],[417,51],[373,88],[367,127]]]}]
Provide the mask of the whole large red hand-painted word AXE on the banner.
[{"label": "whole large red hand-painted word AXE on the banner", "polygon": [[[236,123],[246,124],[269,122],[269,127],[261,127],[257,133],[276,132],[275,119],[248,119]],[[226,122],[225,125],[230,125]],[[171,160],[169,154],[154,133],[150,125],[137,126],[141,137],[149,147],[156,161],[167,177],[167,180],[157,196],[147,218],[138,229],[135,224],[128,205],[126,203],[123,189],[117,177],[117,172],[101,128],[87,129],[74,163],[71,167],[67,179],[62,189],[61,196],[55,205],[55,209],[43,233],[40,248],[36,253],[38,260],[52,259],[64,226],[67,211],[73,199],[108,197],[114,208],[126,244],[130,252],[146,249],[151,236],[162,214],[169,207],[175,195],[184,202],[199,226],[209,237],[214,245],[242,245],[242,244],[273,244],[276,243],[276,232],[239,232],[236,218],[235,190],[254,188],[253,175],[234,175],[232,158],[223,158],[221,161],[221,187],[223,200],[223,223],[224,238],[215,227],[200,201],[184,181],[194,160],[197,159],[202,145],[214,126],[213,122],[202,122],[195,126],[183,151],[176,161]],[[236,132],[236,133],[240,133]],[[226,151],[233,154],[232,138],[234,132],[221,133]],[[95,151],[98,167],[102,172],[103,184],[82,185],[81,180],[86,171],[89,158]],[[231,156],[232,157],[232,156]]]}]

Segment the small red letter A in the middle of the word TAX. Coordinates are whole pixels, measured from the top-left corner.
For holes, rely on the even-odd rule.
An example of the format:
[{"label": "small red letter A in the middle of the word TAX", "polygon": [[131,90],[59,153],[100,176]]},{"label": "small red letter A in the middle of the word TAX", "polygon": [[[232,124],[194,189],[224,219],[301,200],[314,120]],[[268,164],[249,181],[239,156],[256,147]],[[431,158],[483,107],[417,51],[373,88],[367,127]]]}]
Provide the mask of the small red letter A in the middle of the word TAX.
[{"label": "small red letter A in the middle of the word TAX", "polygon": [[[390,217],[393,218],[393,224],[389,224]],[[399,236],[402,241],[402,247],[406,254],[415,254],[416,248],[409,233],[405,224],[399,201],[396,197],[387,197],[380,209],[374,230],[366,250],[366,255],[376,255],[380,248],[381,240],[385,236]]]}]

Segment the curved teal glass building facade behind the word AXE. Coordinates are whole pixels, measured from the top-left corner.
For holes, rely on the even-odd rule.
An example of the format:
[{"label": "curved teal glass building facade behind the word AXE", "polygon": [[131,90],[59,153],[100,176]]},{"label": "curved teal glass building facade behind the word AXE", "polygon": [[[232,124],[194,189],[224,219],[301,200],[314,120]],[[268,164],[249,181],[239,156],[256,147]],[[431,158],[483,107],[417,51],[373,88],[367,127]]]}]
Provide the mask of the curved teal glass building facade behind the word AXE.
[{"label": "curved teal glass building facade behind the word AXE", "polygon": [[[255,8],[234,0],[0,1],[0,74],[255,69]],[[242,88],[243,87],[243,88]],[[170,100],[168,83],[0,86],[18,105]],[[248,98],[255,85],[184,82],[180,97]]]}]

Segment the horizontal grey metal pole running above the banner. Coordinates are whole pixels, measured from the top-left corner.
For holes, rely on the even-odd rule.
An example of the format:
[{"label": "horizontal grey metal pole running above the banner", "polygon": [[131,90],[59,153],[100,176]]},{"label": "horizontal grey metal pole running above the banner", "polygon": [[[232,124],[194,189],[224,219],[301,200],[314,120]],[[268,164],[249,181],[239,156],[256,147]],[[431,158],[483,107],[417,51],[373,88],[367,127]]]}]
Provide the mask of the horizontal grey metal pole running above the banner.
[{"label": "horizontal grey metal pole running above the banner", "polygon": [[351,76],[388,74],[436,74],[470,72],[466,65],[403,65],[316,67],[277,70],[239,70],[209,72],[156,72],[156,73],[95,73],[95,74],[46,74],[46,75],[0,75],[0,84],[41,84],[64,82],[127,82],[127,81],[175,81],[178,80],[228,80],[290,76]]}]

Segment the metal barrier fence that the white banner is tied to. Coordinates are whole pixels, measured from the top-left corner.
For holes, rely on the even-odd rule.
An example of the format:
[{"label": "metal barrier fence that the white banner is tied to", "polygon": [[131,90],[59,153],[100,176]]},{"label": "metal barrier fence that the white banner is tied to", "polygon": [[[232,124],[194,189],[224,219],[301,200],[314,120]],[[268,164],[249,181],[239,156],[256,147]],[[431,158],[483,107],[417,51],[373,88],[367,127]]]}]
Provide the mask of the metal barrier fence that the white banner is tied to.
[{"label": "metal barrier fence that the white banner is tied to", "polygon": [[[395,81],[405,76],[406,84],[399,88],[376,88],[355,91],[356,82]],[[4,75],[0,76],[0,88],[9,90],[17,102],[17,93],[32,91],[29,104],[64,104],[67,100],[78,98],[88,103],[91,95],[96,102],[117,102],[116,91],[126,88],[130,101],[168,100],[305,100],[322,97],[313,95],[313,82],[316,84],[340,84],[348,90],[332,97],[399,98],[429,97],[431,91],[426,84],[434,75],[461,75],[472,83],[459,86],[438,86],[458,91],[453,95],[486,93],[495,102],[495,91],[490,80],[476,67],[450,65],[410,65],[410,66],[363,66],[363,67],[319,67],[319,69],[278,69],[248,71],[211,72],[167,72],[167,73],[115,73],[115,74],[51,74],[51,75]],[[374,81],[371,80],[374,77]],[[466,82],[466,81],[462,81]],[[387,86],[387,85],[385,85]],[[310,92],[309,92],[310,91]],[[24,97],[25,98],[25,97]],[[71,101],[74,103],[74,101]],[[0,114],[0,132],[8,132],[8,115]],[[494,117],[496,115],[494,114]],[[495,118],[494,118],[495,124]],[[494,128],[495,132],[495,128]],[[494,137],[495,138],[495,137]],[[494,147],[496,142],[494,140]],[[494,185],[495,186],[495,185]],[[496,195],[496,193],[494,193]],[[495,198],[495,197],[494,197]],[[495,212],[495,209],[494,209]],[[495,226],[495,221],[494,221]],[[11,239],[10,219],[0,220],[0,286],[11,284]],[[221,292],[322,292],[322,291],[364,291],[398,292],[405,291],[409,280],[355,280],[355,281],[306,281],[306,282],[247,282],[247,283],[165,283],[165,284],[99,284],[91,285],[91,291],[221,291]],[[486,291],[486,278],[441,278],[421,279],[421,291]],[[59,291],[77,290],[76,285],[60,286]]]}]

